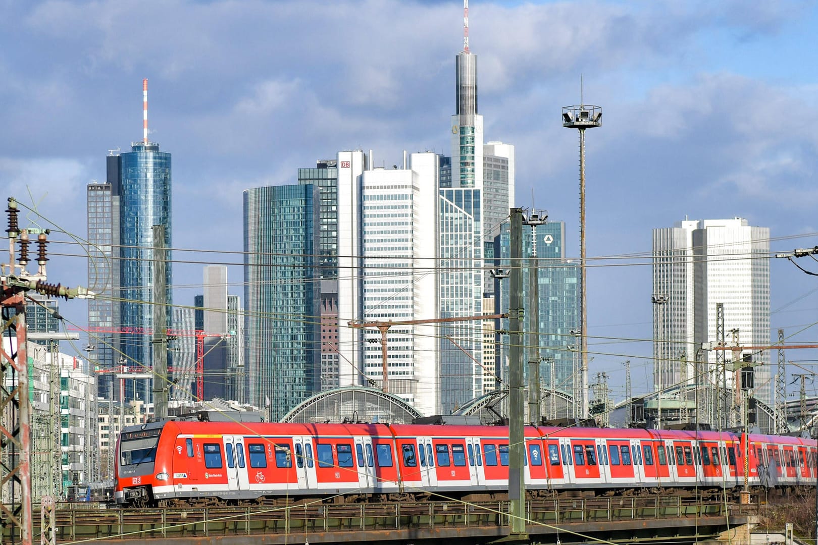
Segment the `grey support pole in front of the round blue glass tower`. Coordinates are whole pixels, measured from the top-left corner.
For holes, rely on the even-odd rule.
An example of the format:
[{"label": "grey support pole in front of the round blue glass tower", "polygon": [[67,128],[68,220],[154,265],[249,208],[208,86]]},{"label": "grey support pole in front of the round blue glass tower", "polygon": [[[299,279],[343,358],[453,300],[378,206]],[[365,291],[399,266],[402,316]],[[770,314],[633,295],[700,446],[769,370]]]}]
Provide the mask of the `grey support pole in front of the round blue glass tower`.
[{"label": "grey support pole in front of the round blue glass tower", "polygon": [[[154,277],[153,277],[153,395],[154,395],[154,417],[168,418],[168,308],[165,305],[166,297],[165,267],[167,257],[164,247],[164,226],[153,226],[153,252],[154,252]],[[147,404],[148,400],[145,400]]]}]

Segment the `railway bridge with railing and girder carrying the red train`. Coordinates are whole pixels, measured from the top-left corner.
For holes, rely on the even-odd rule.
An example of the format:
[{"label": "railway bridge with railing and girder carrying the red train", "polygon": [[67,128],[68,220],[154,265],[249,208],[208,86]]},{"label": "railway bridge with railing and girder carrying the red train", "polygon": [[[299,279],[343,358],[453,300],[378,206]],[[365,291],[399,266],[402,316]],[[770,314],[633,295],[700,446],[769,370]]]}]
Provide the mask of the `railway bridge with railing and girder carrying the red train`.
[{"label": "railway bridge with railing and girder carrying the red train", "polygon": [[[743,536],[757,505],[676,496],[533,500],[522,543],[708,543]],[[56,543],[277,545],[285,543],[492,543],[509,533],[506,501],[272,504],[263,507],[56,510]],[[4,529],[2,543],[14,543]],[[35,537],[40,530],[34,529]],[[519,541],[517,543],[520,543]]]}]

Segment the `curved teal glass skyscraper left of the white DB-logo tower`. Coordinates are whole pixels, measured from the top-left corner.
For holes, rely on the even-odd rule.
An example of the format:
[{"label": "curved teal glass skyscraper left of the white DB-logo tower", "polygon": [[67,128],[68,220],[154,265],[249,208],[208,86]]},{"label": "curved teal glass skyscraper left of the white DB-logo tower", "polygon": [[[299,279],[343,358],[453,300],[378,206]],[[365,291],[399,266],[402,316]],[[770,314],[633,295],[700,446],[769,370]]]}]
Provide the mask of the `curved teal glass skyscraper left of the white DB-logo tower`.
[{"label": "curved teal glass skyscraper left of the white DB-logo tower", "polygon": [[244,192],[247,401],[274,421],[321,388],[315,185]]}]

